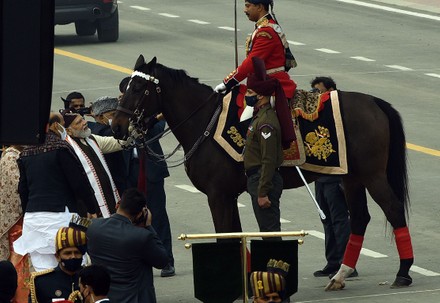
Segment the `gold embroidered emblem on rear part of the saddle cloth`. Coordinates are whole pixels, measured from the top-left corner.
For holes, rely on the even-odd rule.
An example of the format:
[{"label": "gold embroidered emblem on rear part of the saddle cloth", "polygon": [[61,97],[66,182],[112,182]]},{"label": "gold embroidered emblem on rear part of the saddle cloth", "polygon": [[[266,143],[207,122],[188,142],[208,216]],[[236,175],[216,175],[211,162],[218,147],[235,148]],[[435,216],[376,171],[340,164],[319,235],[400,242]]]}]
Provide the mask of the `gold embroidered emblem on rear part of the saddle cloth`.
[{"label": "gold embroidered emblem on rear part of the saddle cloth", "polygon": [[308,157],[314,156],[325,162],[332,153],[336,152],[330,141],[330,132],[323,126],[318,126],[318,130],[306,135],[304,147]]}]

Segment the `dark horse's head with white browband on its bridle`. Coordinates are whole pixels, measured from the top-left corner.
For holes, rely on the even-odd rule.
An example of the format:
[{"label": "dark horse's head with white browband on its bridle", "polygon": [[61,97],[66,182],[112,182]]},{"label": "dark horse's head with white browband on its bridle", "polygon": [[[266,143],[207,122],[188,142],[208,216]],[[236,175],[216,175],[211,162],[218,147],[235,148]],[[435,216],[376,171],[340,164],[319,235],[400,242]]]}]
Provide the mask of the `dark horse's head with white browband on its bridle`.
[{"label": "dark horse's head with white browband on its bridle", "polygon": [[148,120],[160,112],[159,79],[152,75],[155,66],[156,57],[148,64],[142,55],[137,59],[112,121],[115,138],[127,138],[130,124],[144,130]]}]

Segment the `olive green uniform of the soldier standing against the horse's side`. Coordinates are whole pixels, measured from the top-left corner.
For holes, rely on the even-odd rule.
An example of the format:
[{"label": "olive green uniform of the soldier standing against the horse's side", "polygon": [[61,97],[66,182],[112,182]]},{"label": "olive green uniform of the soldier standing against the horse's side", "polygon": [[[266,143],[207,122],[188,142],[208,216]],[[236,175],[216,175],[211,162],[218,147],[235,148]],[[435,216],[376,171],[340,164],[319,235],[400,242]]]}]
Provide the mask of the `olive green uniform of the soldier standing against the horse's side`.
[{"label": "olive green uniform of the soldier standing against the horse's side", "polygon": [[[244,150],[247,190],[251,195],[255,217],[262,232],[281,230],[280,197],[283,179],[278,168],[282,163],[280,123],[270,104],[266,104],[254,114]],[[271,206],[265,209],[258,205],[258,197],[264,196],[268,196],[271,202]]]}]

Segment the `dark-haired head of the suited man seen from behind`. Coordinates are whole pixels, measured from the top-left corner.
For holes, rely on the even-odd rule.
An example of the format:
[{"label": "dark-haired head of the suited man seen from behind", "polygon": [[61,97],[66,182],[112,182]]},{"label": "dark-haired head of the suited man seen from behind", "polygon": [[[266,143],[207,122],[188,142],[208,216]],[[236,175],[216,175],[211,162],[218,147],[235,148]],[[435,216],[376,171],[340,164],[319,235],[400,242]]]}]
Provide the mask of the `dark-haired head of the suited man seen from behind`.
[{"label": "dark-haired head of the suited man seen from behind", "polygon": [[118,213],[123,212],[132,222],[135,222],[144,215],[146,207],[145,195],[137,188],[129,188],[122,194]]}]

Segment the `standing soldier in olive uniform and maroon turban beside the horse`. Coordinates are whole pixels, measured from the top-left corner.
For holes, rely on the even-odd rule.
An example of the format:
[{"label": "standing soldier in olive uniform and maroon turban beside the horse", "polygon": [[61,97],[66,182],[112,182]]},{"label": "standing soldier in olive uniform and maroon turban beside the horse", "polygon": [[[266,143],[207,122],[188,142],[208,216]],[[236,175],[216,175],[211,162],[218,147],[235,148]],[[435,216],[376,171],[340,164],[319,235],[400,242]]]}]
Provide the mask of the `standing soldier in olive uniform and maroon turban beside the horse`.
[{"label": "standing soldier in olive uniform and maroon turban beside the horse", "polygon": [[264,62],[258,57],[252,61],[255,74],[248,76],[245,97],[246,105],[254,107],[244,150],[247,190],[260,231],[280,231],[283,179],[278,169],[283,163],[282,129],[270,96],[275,93],[276,102],[287,101],[279,80],[267,77]]}]

